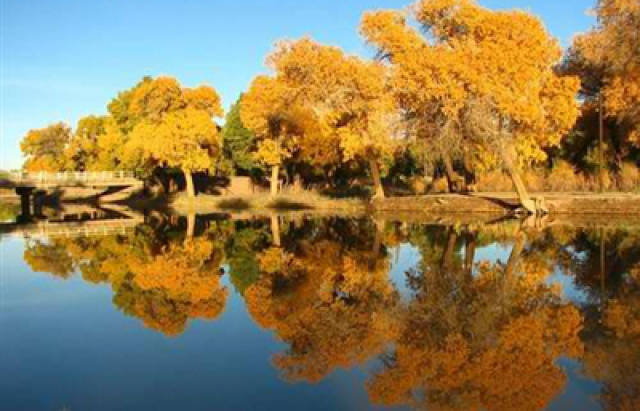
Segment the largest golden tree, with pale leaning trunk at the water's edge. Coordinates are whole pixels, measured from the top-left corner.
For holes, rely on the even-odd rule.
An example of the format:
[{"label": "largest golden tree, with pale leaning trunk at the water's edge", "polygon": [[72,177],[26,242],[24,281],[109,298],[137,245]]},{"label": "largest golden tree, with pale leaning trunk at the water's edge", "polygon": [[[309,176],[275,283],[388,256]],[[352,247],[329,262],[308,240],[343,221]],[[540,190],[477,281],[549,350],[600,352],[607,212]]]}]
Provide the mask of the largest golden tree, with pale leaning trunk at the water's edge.
[{"label": "largest golden tree, with pale leaning trunk at the water's edge", "polygon": [[413,16],[420,34],[399,12],[363,17],[361,31],[391,63],[396,100],[420,138],[444,151],[471,148],[486,163],[502,160],[530,212],[519,167],[545,158],[577,116],[576,78],[554,66],[557,41],[535,17],[492,11],[470,0],[422,0]]}]

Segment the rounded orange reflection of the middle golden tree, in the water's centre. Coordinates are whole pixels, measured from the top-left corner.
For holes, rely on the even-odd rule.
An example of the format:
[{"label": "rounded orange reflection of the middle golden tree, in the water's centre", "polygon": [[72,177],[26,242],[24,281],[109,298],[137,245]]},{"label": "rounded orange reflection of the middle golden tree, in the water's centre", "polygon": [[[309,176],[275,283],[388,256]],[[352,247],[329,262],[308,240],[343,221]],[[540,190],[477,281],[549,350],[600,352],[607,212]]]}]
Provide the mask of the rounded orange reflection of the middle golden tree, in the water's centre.
[{"label": "rounded orange reflection of the middle golden tree, in the water's centre", "polygon": [[288,344],[274,358],[287,380],[316,382],[384,349],[397,293],[376,233],[366,221],[306,222],[259,255],[247,307]]}]

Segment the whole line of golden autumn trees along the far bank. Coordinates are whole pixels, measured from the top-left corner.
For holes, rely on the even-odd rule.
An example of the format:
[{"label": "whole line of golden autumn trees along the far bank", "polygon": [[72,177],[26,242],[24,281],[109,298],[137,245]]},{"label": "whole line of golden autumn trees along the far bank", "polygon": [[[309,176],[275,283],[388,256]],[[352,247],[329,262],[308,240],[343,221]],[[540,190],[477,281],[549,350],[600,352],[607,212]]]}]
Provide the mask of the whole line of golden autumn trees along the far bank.
[{"label": "whole line of golden autumn trees along the far bank", "polygon": [[594,12],[565,50],[531,13],[473,0],[369,11],[370,58],[282,40],[226,116],[212,86],[144,77],[107,114],[29,131],[23,168],[180,175],[190,197],[202,175],[272,196],[515,190],[531,213],[546,211],[532,192],[637,191],[640,3]]}]

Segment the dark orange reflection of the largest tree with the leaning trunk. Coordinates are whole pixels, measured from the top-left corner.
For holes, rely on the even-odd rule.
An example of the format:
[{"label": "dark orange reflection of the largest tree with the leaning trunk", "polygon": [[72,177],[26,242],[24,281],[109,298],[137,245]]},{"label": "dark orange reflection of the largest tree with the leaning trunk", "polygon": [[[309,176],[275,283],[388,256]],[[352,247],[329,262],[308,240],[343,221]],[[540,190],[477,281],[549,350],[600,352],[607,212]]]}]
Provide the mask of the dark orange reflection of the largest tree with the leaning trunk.
[{"label": "dark orange reflection of the largest tree with the leaning trunk", "polygon": [[[374,402],[429,409],[539,409],[565,384],[557,356],[579,356],[582,319],[545,285],[518,233],[506,264],[465,267],[476,235],[446,229],[439,253],[410,275],[415,298],[395,348],[367,383]],[[488,235],[491,233],[485,233]],[[424,244],[424,243],[423,243]],[[439,254],[439,255],[438,255]]]}]

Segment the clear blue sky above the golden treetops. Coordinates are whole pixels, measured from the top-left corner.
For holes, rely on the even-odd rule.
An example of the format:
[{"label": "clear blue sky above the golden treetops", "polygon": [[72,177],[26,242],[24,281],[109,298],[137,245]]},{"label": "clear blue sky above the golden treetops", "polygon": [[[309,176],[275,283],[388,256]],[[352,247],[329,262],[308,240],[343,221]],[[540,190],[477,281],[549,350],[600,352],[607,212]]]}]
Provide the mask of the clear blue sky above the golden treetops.
[{"label": "clear blue sky above the golden treetops", "polygon": [[[593,23],[595,0],[480,0],[533,12],[563,45]],[[103,114],[144,75],[213,85],[225,107],[265,72],[282,38],[309,35],[369,55],[358,35],[363,11],[411,0],[0,0],[0,169],[22,163],[31,128],[74,126]]]}]

